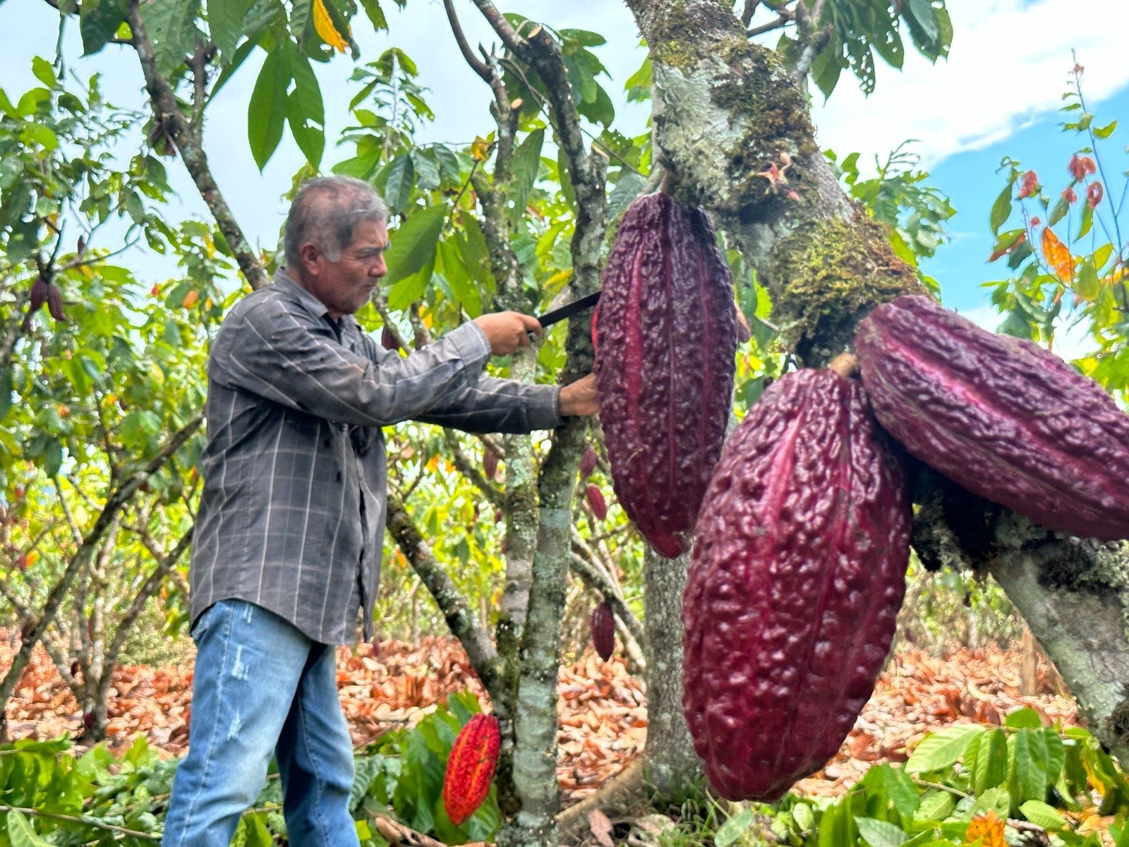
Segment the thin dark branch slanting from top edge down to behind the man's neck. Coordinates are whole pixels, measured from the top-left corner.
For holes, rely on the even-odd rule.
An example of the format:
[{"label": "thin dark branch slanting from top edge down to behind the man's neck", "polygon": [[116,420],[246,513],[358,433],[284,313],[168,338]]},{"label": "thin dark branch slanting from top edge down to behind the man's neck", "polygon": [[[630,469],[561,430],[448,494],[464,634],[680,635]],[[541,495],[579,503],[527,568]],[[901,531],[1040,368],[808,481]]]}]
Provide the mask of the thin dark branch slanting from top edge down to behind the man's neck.
[{"label": "thin dark branch slanting from top edge down to behind the man's neck", "polygon": [[169,136],[176,143],[184,166],[189,169],[192,181],[196,184],[200,195],[208,204],[220,233],[227,242],[233,255],[239,263],[239,270],[252,288],[261,288],[270,280],[266,271],[255,255],[243,229],[239,227],[231,213],[227,201],[220,194],[216,180],[212,177],[211,168],[208,165],[208,157],[196,141],[189,126],[187,121],[181,113],[181,107],[176,102],[176,94],[169,86],[160,71],[157,69],[157,61],[154,59],[152,44],[146,30],[145,21],[141,18],[141,8],[138,0],[129,0],[129,10],[125,19],[129,21],[130,30],[133,33],[133,49],[141,61],[141,70],[145,73],[146,88],[151,98],[154,120],[159,121],[168,130]]}]

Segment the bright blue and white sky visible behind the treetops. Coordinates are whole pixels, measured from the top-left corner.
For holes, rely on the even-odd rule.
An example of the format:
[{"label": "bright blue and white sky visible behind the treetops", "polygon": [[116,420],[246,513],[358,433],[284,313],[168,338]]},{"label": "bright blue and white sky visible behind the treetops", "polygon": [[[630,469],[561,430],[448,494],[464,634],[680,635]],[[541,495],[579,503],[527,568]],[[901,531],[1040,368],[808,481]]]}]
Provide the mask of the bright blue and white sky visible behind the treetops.
[{"label": "bright blue and white sky visible behind the treetops", "polygon": [[[618,102],[616,126],[639,132],[646,113],[624,104],[622,82],[642,60],[638,35],[623,3],[612,0],[555,0],[502,2],[504,9],[543,19],[557,27],[580,27],[603,34],[609,43],[597,49],[613,81],[605,80]],[[491,129],[485,111],[485,86],[469,73],[455,46],[438,0],[409,0],[405,11],[384,3],[391,34],[357,33],[362,60],[374,60],[385,47],[403,47],[420,66],[421,82],[437,121],[422,140],[465,143]],[[492,41],[492,33],[467,0],[456,3],[472,43]],[[910,55],[902,71],[879,66],[877,90],[865,98],[854,80],[843,76],[826,104],[816,104],[819,141],[840,155],[857,150],[864,165],[905,139],[933,172],[933,183],[947,193],[957,209],[951,221],[952,239],[928,262],[928,272],[942,282],[945,303],[991,323],[987,296],[980,283],[996,279],[1000,268],[988,265],[991,234],[988,212],[1003,183],[996,173],[1005,155],[1034,167],[1049,187],[1065,178],[1070,140],[1058,132],[1057,113],[1071,50],[1086,66],[1089,105],[1102,123],[1129,119],[1129,62],[1124,61],[1123,33],[1129,32],[1129,3],[1122,0],[949,0],[955,36],[947,61],[930,66]],[[0,3],[0,87],[14,98],[35,85],[30,59],[53,55],[55,12],[42,0]],[[359,29],[359,28],[358,28]],[[79,50],[77,27],[71,26],[70,55]],[[289,136],[263,173],[252,160],[246,141],[246,103],[261,58],[247,62],[239,76],[213,103],[205,128],[205,147],[217,181],[253,243],[272,247],[285,212],[281,194],[289,186],[300,155]],[[107,46],[98,55],[76,60],[82,78],[104,75],[107,95],[141,108],[140,69],[128,47]],[[343,157],[332,139],[345,125],[345,105],[356,86],[348,81],[351,63],[339,59],[318,67],[326,98],[326,164]],[[1126,169],[1126,126],[1111,139],[1109,165]],[[175,213],[204,215],[202,202],[183,166],[170,166],[181,195]],[[1119,186],[1120,190],[1120,186]],[[130,263],[142,276],[168,276],[167,260],[141,254]]]}]

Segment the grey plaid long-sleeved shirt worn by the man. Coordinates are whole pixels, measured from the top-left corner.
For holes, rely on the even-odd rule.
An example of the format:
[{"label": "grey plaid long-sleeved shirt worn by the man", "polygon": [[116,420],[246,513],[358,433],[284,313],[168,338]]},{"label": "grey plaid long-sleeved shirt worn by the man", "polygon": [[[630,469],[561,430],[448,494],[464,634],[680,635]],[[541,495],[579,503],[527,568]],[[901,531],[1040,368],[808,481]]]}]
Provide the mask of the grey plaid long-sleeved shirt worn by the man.
[{"label": "grey plaid long-sleeved shirt worn by the man", "polygon": [[283,271],[244,297],[208,360],[208,446],[190,573],[193,622],[236,597],[309,638],[373,635],[384,540],[380,427],[421,420],[470,433],[560,425],[559,388],[482,375],[466,323],[402,357],[336,324]]}]

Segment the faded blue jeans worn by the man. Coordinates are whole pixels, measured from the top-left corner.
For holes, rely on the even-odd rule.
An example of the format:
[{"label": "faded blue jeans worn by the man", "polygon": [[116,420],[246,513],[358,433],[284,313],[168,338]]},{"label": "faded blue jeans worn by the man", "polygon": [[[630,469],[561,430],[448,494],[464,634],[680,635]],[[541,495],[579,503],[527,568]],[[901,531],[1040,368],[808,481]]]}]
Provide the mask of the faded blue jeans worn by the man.
[{"label": "faded blue jeans worn by the man", "polygon": [[273,752],[290,844],[358,847],[333,646],[242,600],[209,606],[192,638],[189,754],[176,769],[161,845],[228,847]]}]

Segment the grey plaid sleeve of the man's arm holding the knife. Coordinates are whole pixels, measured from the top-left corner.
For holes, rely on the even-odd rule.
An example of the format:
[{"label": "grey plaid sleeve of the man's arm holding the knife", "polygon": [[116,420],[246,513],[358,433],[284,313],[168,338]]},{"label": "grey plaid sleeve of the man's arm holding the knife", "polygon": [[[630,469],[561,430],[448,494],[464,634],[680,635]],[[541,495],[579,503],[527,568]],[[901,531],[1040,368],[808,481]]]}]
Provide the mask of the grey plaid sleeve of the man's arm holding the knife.
[{"label": "grey plaid sleeve of the man's arm holding the knife", "polygon": [[484,335],[469,323],[406,357],[374,361],[338,343],[324,322],[269,298],[220,332],[209,374],[291,409],[380,427],[419,418],[438,398],[457,396],[489,358]]}]

